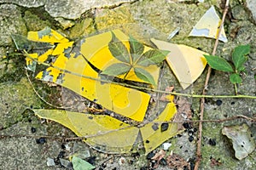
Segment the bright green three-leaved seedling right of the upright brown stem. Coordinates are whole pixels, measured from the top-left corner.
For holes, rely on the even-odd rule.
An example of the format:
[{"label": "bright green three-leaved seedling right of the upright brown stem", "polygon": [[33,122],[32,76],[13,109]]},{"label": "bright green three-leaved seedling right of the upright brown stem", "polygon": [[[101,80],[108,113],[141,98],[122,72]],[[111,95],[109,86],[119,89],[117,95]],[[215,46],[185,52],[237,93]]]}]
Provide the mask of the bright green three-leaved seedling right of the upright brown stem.
[{"label": "bright green three-leaved seedling right of the upright brown stem", "polygon": [[250,53],[249,45],[237,46],[232,53],[232,65],[222,57],[216,55],[204,55],[207,59],[208,65],[218,71],[230,72],[230,82],[235,84],[235,90],[237,94],[236,84],[242,82],[241,72],[245,71],[245,62],[247,61],[247,54]]}]

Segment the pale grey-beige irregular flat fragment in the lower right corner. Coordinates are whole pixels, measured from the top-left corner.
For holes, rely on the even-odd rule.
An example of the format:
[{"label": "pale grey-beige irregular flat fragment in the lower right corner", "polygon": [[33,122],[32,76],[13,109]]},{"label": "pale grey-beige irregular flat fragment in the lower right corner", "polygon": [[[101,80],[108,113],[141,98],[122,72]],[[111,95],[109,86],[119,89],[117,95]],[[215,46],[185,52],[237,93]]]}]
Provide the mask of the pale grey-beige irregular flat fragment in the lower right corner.
[{"label": "pale grey-beige irregular flat fragment in the lower right corner", "polygon": [[231,139],[238,160],[247,157],[255,149],[255,142],[247,124],[224,127],[222,133]]}]

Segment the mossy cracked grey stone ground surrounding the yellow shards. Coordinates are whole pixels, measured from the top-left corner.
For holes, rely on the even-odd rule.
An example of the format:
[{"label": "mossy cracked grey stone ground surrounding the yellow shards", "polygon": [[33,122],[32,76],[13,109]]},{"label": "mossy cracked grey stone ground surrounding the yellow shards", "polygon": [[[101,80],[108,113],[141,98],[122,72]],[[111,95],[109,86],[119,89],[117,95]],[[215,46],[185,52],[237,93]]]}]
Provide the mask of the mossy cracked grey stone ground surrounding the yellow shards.
[{"label": "mossy cracked grey stone ground surrounding the yellow shards", "polygon": [[[136,3],[133,3],[136,2]],[[7,1],[0,0],[0,56],[6,55],[7,52],[15,53],[14,44],[9,37],[11,33],[26,35],[27,31],[38,31],[45,26],[50,26],[56,30],[62,31],[68,38],[76,39],[86,37],[96,31],[104,29],[120,28],[126,33],[131,33],[142,42],[148,42],[149,37],[166,40],[168,34],[177,26],[181,27],[179,34],[172,39],[172,42],[183,43],[195,48],[201,48],[208,53],[212,52],[214,40],[201,37],[187,37],[192,26],[195,25],[201,15],[210,7],[215,5],[219,7],[217,0],[205,1],[205,3],[178,3],[177,0],[144,0],[144,1],[49,1],[49,0],[30,0],[30,1]],[[192,2],[192,1],[191,1]],[[230,53],[237,44],[249,43],[252,45],[252,52],[247,61],[247,77],[239,86],[241,94],[255,95],[255,68],[256,65],[256,29],[255,25],[249,20],[250,14],[240,3],[234,0],[231,3],[231,12],[236,21],[225,23],[226,33],[229,38],[228,43],[220,42],[218,54],[226,59],[230,59]],[[247,8],[253,9],[253,0],[247,0]],[[17,4],[17,5],[15,5]],[[122,4],[122,5],[119,5]],[[250,6],[251,5],[251,6]],[[218,8],[219,9],[219,8]],[[42,12],[43,11],[43,12]],[[219,10],[219,12],[221,12]],[[45,15],[46,14],[46,15]],[[47,15],[48,14],[48,15]],[[253,15],[254,16],[254,15]],[[57,20],[57,23],[55,23]],[[254,17],[255,20],[255,17]],[[61,26],[58,24],[61,24]],[[64,23],[67,22],[65,25]],[[65,29],[63,29],[63,27]],[[239,28],[236,31],[236,28]],[[235,31],[236,36],[230,37]],[[8,65],[6,66],[6,63]],[[15,65],[23,63],[22,66]],[[74,143],[79,143],[86,150],[90,150],[91,156],[96,156],[96,167],[102,167],[102,162],[106,161],[105,169],[140,169],[147,167],[148,160],[141,154],[140,156],[125,156],[124,165],[119,164],[119,157],[111,156],[91,150],[86,144],[79,141],[66,141],[55,138],[47,139],[45,144],[37,144],[36,139],[41,135],[74,137],[74,134],[67,128],[61,127],[55,122],[46,123],[33,116],[31,112],[25,111],[27,107],[42,106],[42,102],[29,88],[26,76],[20,74],[24,71],[25,60],[11,58],[9,61],[1,61],[1,111],[0,126],[3,130],[1,134],[7,134],[13,137],[0,138],[0,167],[1,169],[65,169],[64,167],[47,167],[47,158],[56,158],[60,151],[65,151],[65,159],[72,151],[67,150]],[[166,67],[167,68],[167,67]],[[208,87],[208,94],[233,94],[233,86],[229,82],[227,74],[220,71],[213,71]],[[13,77],[13,78],[11,78]],[[23,77],[16,80],[15,77]],[[201,94],[203,83],[206,77],[206,71],[195,82],[195,84],[184,93]],[[171,71],[166,71],[164,80],[174,85],[177,91],[182,89],[172,75]],[[3,82],[6,80],[5,82]],[[43,82],[39,82],[42,84]],[[40,86],[39,86],[40,88]],[[42,87],[41,87],[42,88]],[[164,87],[162,87],[164,88]],[[44,95],[49,91],[43,91]],[[222,99],[223,104],[216,105],[217,99],[207,99],[205,119],[218,119],[229,116],[244,114],[246,116],[255,116],[255,102],[251,99]],[[195,119],[199,113],[199,99],[190,99]],[[8,103],[6,105],[5,103]],[[43,105],[44,106],[44,105]],[[42,121],[44,123],[42,123]],[[221,128],[225,125],[247,122],[245,120],[236,120],[233,122],[222,123],[204,123],[203,141],[202,141],[202,162],[200,169],[255,169],[255,151],[251,156],[242,161],[237,161],[230,148],[230,143],[221,135]],[[256,136],[255,123],[247,122],[251,127],[253,136]],[[31,128],[37,129],[32,133]],[[194,124],[196,127],[196,124]],[[15,137],[15,135],[21,136]],[[22,135],[23,134],[23,135]],[[24,135],[26,134],[26,135]],[[32,135],[35,137],[31,137]],[[193,136],[194,138],[195,135]],[[195,158],[195,139],[189,142],[189,132],[182,133],[180,137],[169,139],[167,142],[172,143],[167,153],[171,150],[174,153],[183,156],[186,160]],[[217,144],[212,146],[208,144],[209,139],[216,139]],[[63,149],[62,144],[68,147]],[[160,146],[161,148],[161,146]],[[157,150],[160,150],[158,148]],[[157,151],[156,150],[156,151]],[[221,166],[211,167],[211,157],[220,158]],[[133,162],[133,163],[131,163]],[[158,169],[168,169],[160,166]]]}]

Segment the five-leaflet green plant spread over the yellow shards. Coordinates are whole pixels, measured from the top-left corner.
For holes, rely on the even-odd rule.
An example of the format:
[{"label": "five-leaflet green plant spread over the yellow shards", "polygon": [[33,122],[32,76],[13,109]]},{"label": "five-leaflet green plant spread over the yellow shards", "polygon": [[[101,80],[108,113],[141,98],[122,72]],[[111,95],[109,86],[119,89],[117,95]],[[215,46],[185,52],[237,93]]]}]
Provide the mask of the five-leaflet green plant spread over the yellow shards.
[{"label": "five-leaflet green plant spread over the yellow shards", "polygon": [[149,65],[157,65],[166,59],[169,51],[160,49],[149,49],[144,52],[144,45],[138,42],[135,38],[129,38],[129,49],[125,44],[112,32],[112,40],[108,43],[108,49],[114,58],[119,59],[121,63],[109,65],[102,74],[108,76],[124,75],[123,80],[127,77],[130,71],[134,71],[135,75],[144,82],[155,85],[154,77],[145,70]]}]

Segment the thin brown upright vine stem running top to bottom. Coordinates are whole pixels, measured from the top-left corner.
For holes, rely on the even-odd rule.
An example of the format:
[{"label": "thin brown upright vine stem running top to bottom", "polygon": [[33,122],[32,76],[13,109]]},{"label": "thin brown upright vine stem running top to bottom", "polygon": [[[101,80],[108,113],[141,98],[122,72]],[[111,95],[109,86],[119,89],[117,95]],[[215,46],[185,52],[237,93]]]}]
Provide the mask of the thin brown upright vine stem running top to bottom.
[{"label": "thin brown upright vine stem running top to bottom", "polygon": [[[223,29],[223,26],[224,26],[224,20],[225,20],[226,14],[228,13],[228,10],[229,10],[229,4],[230,4],[230,0],[226,0],[225,7],[224,7],[224,14],[222,16],[221,24],[218,29],[218,35],[216,37],[216,41],[215,41],[215,44],[214,44],[214,47],[212,50],[212,55],[216,54],[216,50],[218,47],[218,38],[219,38],[219,36],[221,34],[221,30]],[[208,71],[207,71],[205,88],[202,91],[202,95],[207,94],[207,86],[208,86],[211,72],[212,72],[212,68],[211,68],[211,66],[209,66]],[[194,168],[195,170],[198,170],[200,163],[201,163],[201,133],[202,133],[202,121],[203,121],[203,117],[204,117],[204,109],[205,109],[205,97],[202,97],[201,105],[200,105],[200,121],[201,122],[199,122],[198,139],[197,139],[197,144],[196,144],[196,161],[195,161],[195,168]]]}]

